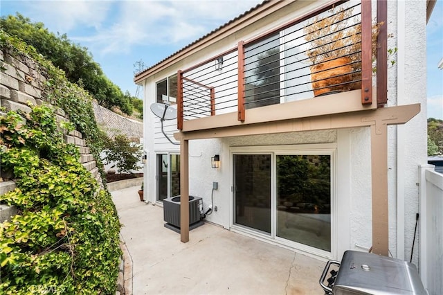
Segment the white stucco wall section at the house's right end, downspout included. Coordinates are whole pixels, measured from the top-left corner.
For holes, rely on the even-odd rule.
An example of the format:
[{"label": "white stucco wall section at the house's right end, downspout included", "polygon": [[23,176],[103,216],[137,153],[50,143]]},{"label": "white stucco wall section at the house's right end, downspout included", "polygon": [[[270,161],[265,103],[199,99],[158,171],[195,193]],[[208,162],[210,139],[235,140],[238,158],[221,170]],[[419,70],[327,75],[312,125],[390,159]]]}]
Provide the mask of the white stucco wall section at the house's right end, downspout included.
[{"label": "white stucco wall section at the house's right end, downspout included", "polygon": [[[390,242],[390,249],[395,253],[398,249],[398,258],[409,260],[418,213],[418,166],[427,163],[426,1],[388,1],[388,19],[392,19],[388,28],[395,35],[390,42],[399,48],[397,64],[388,75],[388,106],[418,102],[422,109],[405,125],[389,128],[390,229],[396,225],[400,241],[395,245]],[[396,216],[395,207],[404,215]],[[397,218],[404,226],[396,223]],[[391,230],[392,236],[395,234]],[[418,245],[416,238],[413,262],[417,266]]]}]

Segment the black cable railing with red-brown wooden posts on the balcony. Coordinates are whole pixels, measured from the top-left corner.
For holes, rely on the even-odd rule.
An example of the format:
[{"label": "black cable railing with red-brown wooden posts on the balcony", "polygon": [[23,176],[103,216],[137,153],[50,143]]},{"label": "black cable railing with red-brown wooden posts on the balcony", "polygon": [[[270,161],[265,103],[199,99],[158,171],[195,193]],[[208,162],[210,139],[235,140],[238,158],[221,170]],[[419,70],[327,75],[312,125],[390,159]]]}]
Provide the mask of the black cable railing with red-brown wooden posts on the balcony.
[{"label": "black cable railing with red-brown wooden posts on the balcony", "polygon": [[374,35],[386,30],[372,24],[371,9],[367,0],[337,1],[179,71],[179,129],[184,120],[237,112],[243,121],[246,109],[354,89],[371,104]]}]

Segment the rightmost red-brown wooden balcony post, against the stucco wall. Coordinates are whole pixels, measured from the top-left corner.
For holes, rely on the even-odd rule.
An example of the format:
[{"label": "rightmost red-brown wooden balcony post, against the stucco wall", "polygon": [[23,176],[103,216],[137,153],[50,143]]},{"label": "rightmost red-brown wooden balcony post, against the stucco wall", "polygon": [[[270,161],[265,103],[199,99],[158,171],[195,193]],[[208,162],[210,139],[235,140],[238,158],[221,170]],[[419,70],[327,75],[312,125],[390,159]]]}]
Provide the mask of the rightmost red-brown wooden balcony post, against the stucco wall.
[{"label": "rightmost red-brown wooden balcony post, against the stucco wall", "polygon": [[388,103],[388,1],[377,1],[377,107]]}]

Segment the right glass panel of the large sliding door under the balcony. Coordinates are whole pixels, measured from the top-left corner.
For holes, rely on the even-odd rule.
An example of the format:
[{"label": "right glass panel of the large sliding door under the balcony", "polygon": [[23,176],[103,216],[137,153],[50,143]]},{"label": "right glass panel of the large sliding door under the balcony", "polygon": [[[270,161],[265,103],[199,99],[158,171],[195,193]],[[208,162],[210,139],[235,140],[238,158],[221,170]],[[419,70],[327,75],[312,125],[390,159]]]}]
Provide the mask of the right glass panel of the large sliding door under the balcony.
[{"label": "right glass panel of the large sliding door under the balcony", "polygon": [[276,235],[331,251],[331,157],[277,155]]}]

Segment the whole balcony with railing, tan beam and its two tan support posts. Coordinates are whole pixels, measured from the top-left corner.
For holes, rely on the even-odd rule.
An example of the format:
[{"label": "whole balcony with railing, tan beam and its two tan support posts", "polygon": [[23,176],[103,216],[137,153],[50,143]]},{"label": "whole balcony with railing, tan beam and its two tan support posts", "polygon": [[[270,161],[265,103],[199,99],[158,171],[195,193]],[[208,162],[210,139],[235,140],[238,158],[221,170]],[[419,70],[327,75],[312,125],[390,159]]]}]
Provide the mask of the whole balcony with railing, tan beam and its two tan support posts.
[{"label": "whole balcony with railing, tan beam and its two tan support posts", "polygon": [[[372,253],[388,256],[388,126],[408,123],[419,114],[420,104],[385,107],[386,2],[335,1],[315,9],[305,6],[303,11],[309,11],[305,15],[251,39],[237,37],[242,30],[230,30],[238,42],[235,48],[178,71],[180,132],[174,138],[180,141],[181,196],[189,196],[189,141],[367,127]],[[374,21],[373,6],[377,7]],[[284,8],[280,7],[280,12]],[[260,23],[259,17],[254,21]],[[208,40],[205,49],[213,44],[217,40]],[[340,148],[349,152],[347,147]],[[187,204],[181,206],[181,216],[187,216],[187,211]],[[181,221],[182,242],[189,241],[186,221],[186,217]]]}]

